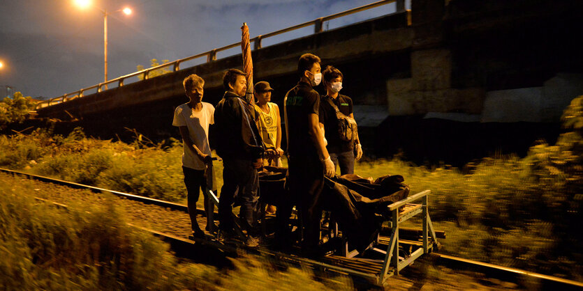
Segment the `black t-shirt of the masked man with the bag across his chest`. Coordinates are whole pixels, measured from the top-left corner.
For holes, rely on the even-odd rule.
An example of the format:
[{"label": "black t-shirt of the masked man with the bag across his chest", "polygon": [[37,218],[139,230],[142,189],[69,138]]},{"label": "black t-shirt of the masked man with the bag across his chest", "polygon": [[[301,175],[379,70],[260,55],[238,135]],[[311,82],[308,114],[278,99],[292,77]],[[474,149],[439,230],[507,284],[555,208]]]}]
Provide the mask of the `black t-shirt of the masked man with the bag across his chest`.
[{"label": "black t-shirt of the masked man with the bag across his chest", "polygon": [[330,104],[330,101],[334,102],[336,107],[340,112],[344,113],[346,116],[350,116],[353,113],[353,102],[350,97],[346,95],[338,94],[335,99],[323,95],[320,97],[320,123],[324,125],[324,136],[328,141],[326,148],[328,152],[340,153],[352,150],[350,141],[342,141],[338,134],[338,119],[336,117],[336,110]]}]

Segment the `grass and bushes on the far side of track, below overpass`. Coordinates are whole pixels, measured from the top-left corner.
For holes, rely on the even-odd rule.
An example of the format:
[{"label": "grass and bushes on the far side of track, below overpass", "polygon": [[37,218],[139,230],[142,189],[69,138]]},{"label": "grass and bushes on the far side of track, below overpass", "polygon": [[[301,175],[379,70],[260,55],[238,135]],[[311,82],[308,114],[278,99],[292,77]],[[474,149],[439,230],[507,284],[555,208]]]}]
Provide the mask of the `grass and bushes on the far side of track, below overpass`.
[{"label": "grass and bushes on the far side of track, below overpass", "polygon": [[[563,125],[556,145],[541,141],[524,158],[489,157],[463,169],[377,159],[355,173],[401,174],[412,192],[431,189],[431,218],[449,235],[446,253],[583,281],[583,97]],[[183,202],[181,143],[136,135],[130,144],[88,139],[80,129],[0,136],[0,166]],[[214,166],[220,189],[221,163]]]}]

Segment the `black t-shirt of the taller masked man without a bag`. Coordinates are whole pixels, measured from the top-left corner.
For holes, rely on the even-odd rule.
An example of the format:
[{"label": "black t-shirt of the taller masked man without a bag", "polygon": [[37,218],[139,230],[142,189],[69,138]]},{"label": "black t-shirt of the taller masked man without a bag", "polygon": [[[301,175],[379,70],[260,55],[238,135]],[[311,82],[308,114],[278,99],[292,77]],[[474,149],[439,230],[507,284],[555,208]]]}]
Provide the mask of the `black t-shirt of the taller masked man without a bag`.
[{"label": "black t-shirt of the taller masked man without a bag", "polygon": [[285,110],[288,116],[288,155],[318,157],[316,146],[309,135],[309,115],[318,115],[320,94],[313,90],[309,79],[302,77],[286,94]]}]

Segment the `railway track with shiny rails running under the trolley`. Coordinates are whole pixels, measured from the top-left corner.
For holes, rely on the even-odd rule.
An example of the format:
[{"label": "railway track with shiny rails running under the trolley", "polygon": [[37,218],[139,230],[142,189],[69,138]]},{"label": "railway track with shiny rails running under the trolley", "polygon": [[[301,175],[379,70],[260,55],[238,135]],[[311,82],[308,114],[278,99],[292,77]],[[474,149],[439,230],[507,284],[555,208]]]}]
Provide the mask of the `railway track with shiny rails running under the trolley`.
[{"label": "railway track with shiny rails running under the trolley", "polygon": [[[0,173],[8,173],[10,175],[19,175],[24,176],[26,178],[32,180],[38,180],[41,182],[47,182],[51,184],[59,184],[61,186],[71,187],[73,189],[88,189],[95,193],[111,193],[116,196],[126,198],[128,200],[133,200],[139,203],[144,203],[146,205],[155,205],[158,207],[163,207],[166,210],[172,210],[176,212],[183,212],[184,214],[188,213],[188,208],[186,205],[178,204],[178,203],[171,203],[164,200],[158,200],[153,198],[147,198],[143,196],[137,196],[133,194],[127,194],[119,191],[112,191],[108,189],[102,189],[99,187],[92,187],[84,184],[78,184],[75,182],[68,182],[64,180],[48,178],[40,175],[33,175],[29,173],[24,173],[22,171],[13,171],[8,170],[5,168],[0,168]],[[38,198],[38,200],[43,200],[46,203],[52,203],[57,207],[66,208],[67,205],[59,202],[55,202],[45,198]],[[200,214],[204,214],[204,210],[198,209],[197,212]],[[201,218],[199,223],[203,223],[202,221],[204,218]],[[188,223],[190,223],[188,221]],[[331,257],[326,260],[311,260],[308,258],[302,258],[297,255],[290,255],[287,253],[279,253],[275,251],[271,251],[269,249],[259,248],[259,249],[249,249],[245,248],[241,244],[225,244],[222,242],[217,242],[216,240],[212,239],[213,237],[207,235],[206,239],[196,239],[193,237],[186,238],[187,235],[179,234],[172,234],[160,230],[155,230],[152,228],[147,228],[144,226],[138,226],[131,224],[131,226],[135,228],[140,228],[141,230],[147,231],[152,233],[156,237],[160,237],[163,241],[168,242],[170,244],[172,251],[181,257],[188,258],[191,255],[191,250],[193,246],[196,244],[205,244],[206,246],[212,247],[214,249],[220,249],[221,251],[226,251],[228,253],[236,254],[237,251],[244,249],[245,251],[261,254],[261,255],[268,255],[278,260],[284,260],[287,262],[292,262],[298,265],[304,266],[311,266],[315,269],[338,272],[341,274],[350,274],[351,276],[359,276],[365,279],[371,279],[373,276],[370,272],[374,272],[378,266],[374,264],[374,262],[369,262],[365,259],[362,260],[351,260],[350,262],[346,262],[346,264],[340,264],[342,267],[338,267],[338,262],[343,262],[342,257]],[[190,225],[189,225],[190,226]],[[475,260],[467,260],[464,258],[457,258],[452,255],[445,255],[441,253],[431,253],[429,255],[429,260],[433,263],[438,265],[443,265],[446,267],[450,267],[451,269],[458,269],[458,270],[466,270],[472,272],[479,272],[485,274],[486,276],[492,278],[498,278],[503,281],[511,281],[517,282],[520,280],[524,280],[524,278],[529,280],[536,280],[540,282],[540,286],[543,289],[551,289],[551,290],[583,290],[583,283],[578,281],[571,281],[564,278],[559,278],[555,276],[548,276],[545,274],[538,274],[534,272],[525,271],[522,269],[515,269],[511,267],[503,267],[499,265],[493,265],[485,262],[478,262]],[[326,257],[327,258],[327,257]],[[346,272],[346,266],[352,267],[352,270]]]}]

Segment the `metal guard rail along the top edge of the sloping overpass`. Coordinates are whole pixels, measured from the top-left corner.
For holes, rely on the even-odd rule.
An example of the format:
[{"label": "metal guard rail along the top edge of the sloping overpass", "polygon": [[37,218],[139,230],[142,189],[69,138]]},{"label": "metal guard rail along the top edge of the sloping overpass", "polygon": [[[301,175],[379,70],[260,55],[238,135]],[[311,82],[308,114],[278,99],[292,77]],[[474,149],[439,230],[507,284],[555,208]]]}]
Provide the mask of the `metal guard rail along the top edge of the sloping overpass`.
[{"label": "metal guard rail along the top edge of the sloping overpass", "polygon": [[[357,7],[357,8],[353,8],[353,9],[350,9],[350,10],[346,10],[346,11],[341,12],[341,13],[336,13],[336,14],[328,15],[326,17],[320,17],[318,19],[314,19],[314,20],[311,20],[309,22],[304,22],[302,24],[297,24],[295,26],[290,26],[290,27],[288,27],[286,29],[280,29],[279,31],[274,31],[272,33],[267,33],[267,34],[265,34],[263,36],[262,35],[256,36],[255,38],[251,38],[249,40],[249,42],[253,42],[253,50],[257,50],[257,49],[260,49],[261,48],[261,40],[263,40],[265,38],[270,38],[272,36],[278,36],[278,35],[280,35],[282,33],[286,33],[286,32],[289,32],[289,31],[294,31],[296,29],[302,29],[304,27],[311,26],[311,25],[314,26],[314,33],[320,33],[320,32],[323,31],[323,23],[324,22],[327,22],[327,21],[329,21],[331,19],[336,19],[336,18],[343,17],[343,16],[346,16],[346,15],[351,15],[351,14],[354,14],[354,13],[358,13],[360,11],[369,10],[371,8],[376,8],[378,6],[383,6],[383,5],[386,5],[386,4],[389,4],[389,3],[394,3],[394,2],[397,3],[397,11],[396,11],[396,13],[399,13],[399,12],[402,12],[402,11],[405,10],[405,0],[381,0],[381,1],[377,1],[377,2],[374,2],[374,3],[370,3],[370,4],[367,4],[367,5],[364,5],[364,6],[360,6],[360,7]],[[111,79],[111,80],[105,81],[103,83],[96,84],[94,86],[90,86],[90,87],[87,87],[87,88],[82,88],[79,91],[67,93],[67,94],[62,95],[62,96],[59,96],[59,97],[54,97],[54,98],[51,98],[49,100],[45,100],[45,101],[42,101],[42,102],[38,102],[38,104],[36,104],[35,109],[40,109],[40,108],[48,107],[48,106],[51,106],[51,105],[54,105],[54,104],[59,104],[59,103],[62,103],[62,102],[66,102],[68,100],[73,100],[73,99],[78,98],[78,97],[83,97],[85,91],[89,91],[89,90],[94,89],[94,88],[97,89],[97,93],[100,93],[100,92],[103,91],[104,86],[105,86],[105,90],[107,90],[108,89],[107,88],[107,85],[108,84],[111,84],[111,83],[117,82],[117,87],[121,87],[121,86],[124,86],[124,80],[125,79],[128,79],[128,78],[131,78],[131,77],[136,77],[136,76],[140,76],[141,75],[143,79],[148,79],[149,72],[152,72],[154,70],[158,70],[158,69],[161,69],[161,68],[166,68],[166,67],[169,67],[170,65],[172,65],[172,71],[173,72],[177,72],[178,70],[180,70],[180,63],[184,63],[186,61],[191,61],[191,60],[193,60],[195,58],[200,58],[200,57],[206,56],[207,57],[207,63],[209,63],[211,61],[216,61],[216,53],[217,52],[222,52],[222,51],[225,51],[227,49],[232,49],[233,47],[238,47],[239,45],[241,45],[241,42],[235,42],[235,43],[233,43],[231,45],[226,45],[224,47],[219,47],[218,49],[212,49],[209,52],[203,52],[202,54],[195,54],[194,56],[189,56],[189,57],[186,57],[186,58],[181,58],[179,60],[172,61],[172,62],[169,62],[169,63],[163,63],[161,65],[156,65],[156,67],[147,68],[145,70],[141,70],[141,71],[138,71],[138,72],[133,72],[131,74],[126,74],[125,76],[117,77],[115,79]]]}]

